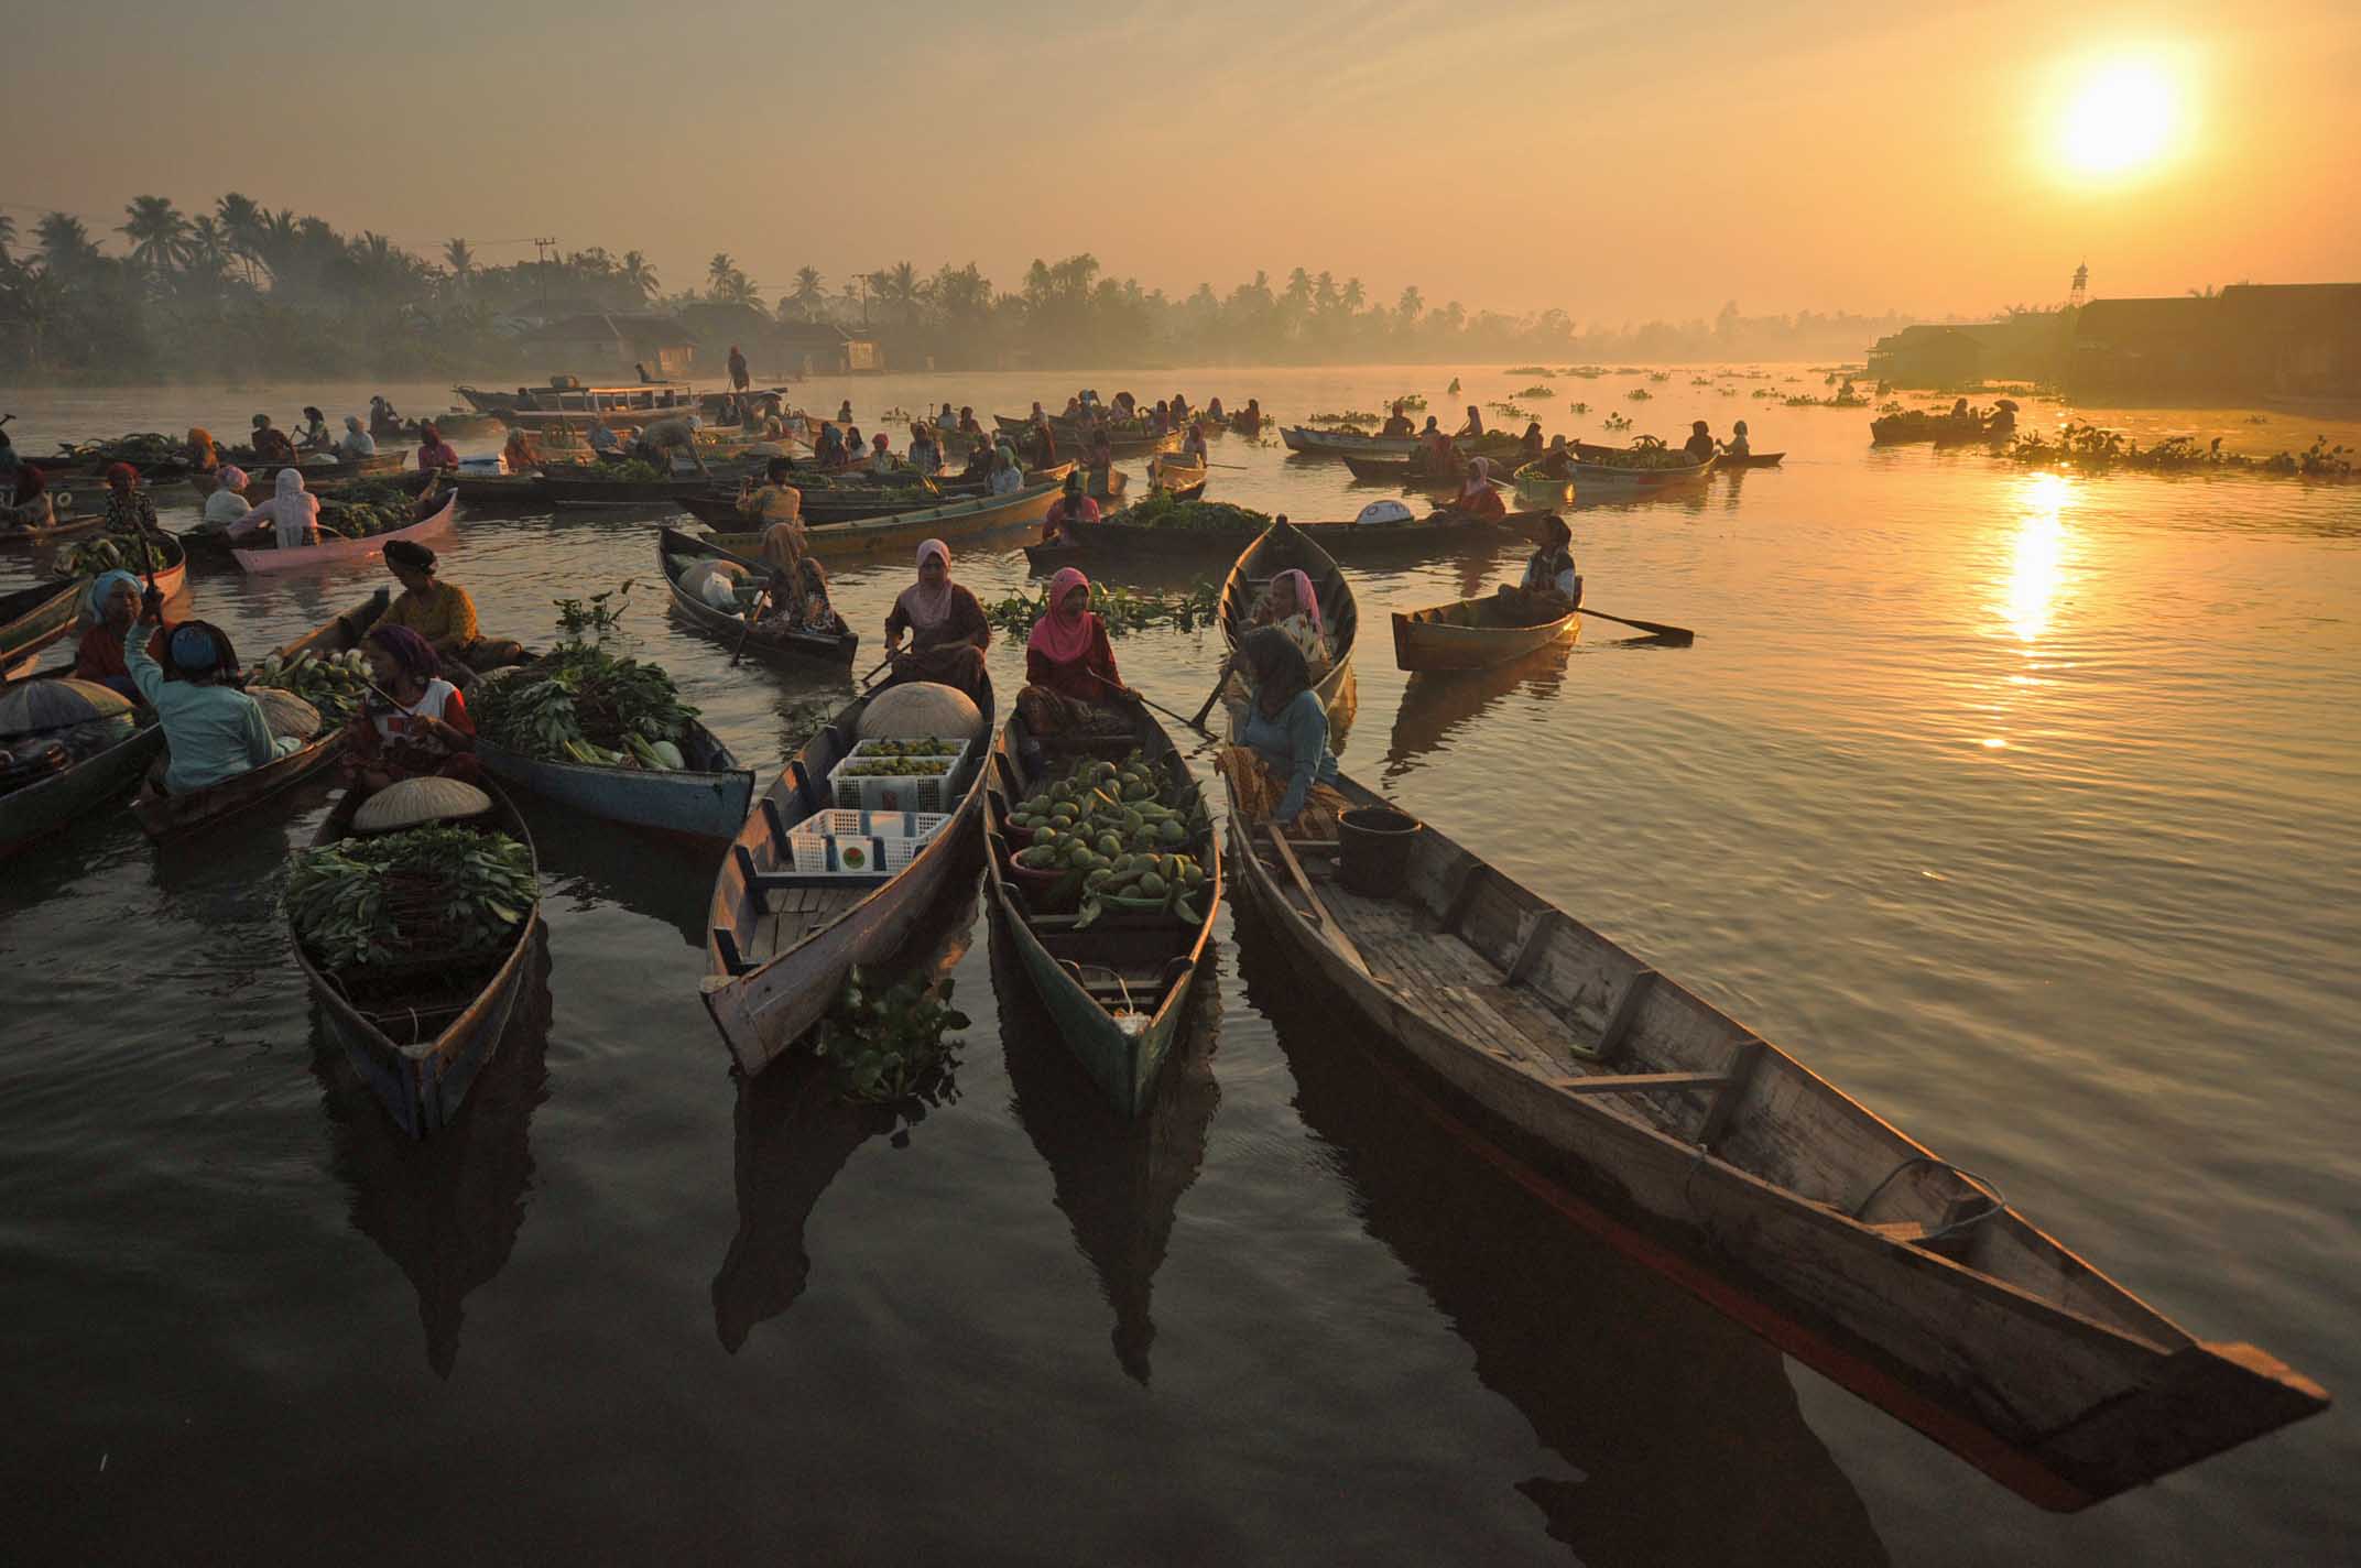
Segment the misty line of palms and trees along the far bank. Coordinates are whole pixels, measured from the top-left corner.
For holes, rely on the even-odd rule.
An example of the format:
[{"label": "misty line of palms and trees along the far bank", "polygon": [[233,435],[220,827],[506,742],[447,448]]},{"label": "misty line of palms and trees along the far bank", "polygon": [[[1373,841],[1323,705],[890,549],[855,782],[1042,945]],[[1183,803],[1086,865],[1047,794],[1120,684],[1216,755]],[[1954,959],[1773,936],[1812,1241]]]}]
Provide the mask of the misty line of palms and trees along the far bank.
[{"label": "misty line of palms and trees along the far bank", "polygon": [[1358,276],[1268,272],[1228,293],[1185,295],[1105,272],[1096,255],[1034,260],[1013,288],[975,262],[923,272],[892,262],[765,288],[727,253],[666,293],[640,250],[543,248],[486,264],[465,239],[416,255],[385,234],[231,191],[184,213],[137,196],[92,234],[47,213],[24,234],[0,215],[0,375],[9,380],[229,380],[241,375],[538,373],[522,333],[574,312],[744,305],[779,324],[833,324],[881,338],[890,368],[1608,361],[1853,357],[1910,316],[1745,316],[1591,321],[1565,309],[1509,314],[1428,302],[1417,286],[1374,298]]}]

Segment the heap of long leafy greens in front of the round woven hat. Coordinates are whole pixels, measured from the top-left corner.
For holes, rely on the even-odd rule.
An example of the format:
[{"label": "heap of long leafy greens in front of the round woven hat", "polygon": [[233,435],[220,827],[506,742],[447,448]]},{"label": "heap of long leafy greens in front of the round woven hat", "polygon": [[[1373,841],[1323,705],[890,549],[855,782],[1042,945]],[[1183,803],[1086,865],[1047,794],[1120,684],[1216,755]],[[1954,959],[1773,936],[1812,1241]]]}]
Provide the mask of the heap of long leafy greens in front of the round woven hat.
[{"label": "heap of long leafy greens in front of the round woven hat", "polygon": [[493,952],[536,897],[534,852],[465,827],[300,850],[286,893],[297,937],[328,971]]}]

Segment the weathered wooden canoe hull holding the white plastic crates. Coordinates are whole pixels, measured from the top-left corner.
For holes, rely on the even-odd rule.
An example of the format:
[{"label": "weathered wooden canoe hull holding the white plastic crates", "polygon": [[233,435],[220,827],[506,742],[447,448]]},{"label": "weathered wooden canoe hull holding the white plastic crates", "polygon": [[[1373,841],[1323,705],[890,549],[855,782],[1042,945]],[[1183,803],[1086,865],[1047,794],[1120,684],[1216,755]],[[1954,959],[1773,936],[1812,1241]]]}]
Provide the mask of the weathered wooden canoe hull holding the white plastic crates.
[{"label": "weathered wooden canoe hull holding the white plastic crates", "polygon": [[852,966],[878,963],[900,952],[944,897],[954,871],[973,867],[966,857],[985,803],[994,732],[989,685],[977,704],[977,734],[951,775],[956,803],[944,812],[951,819],[907,867],[876,878],[793,871],[786,836],[812,812],[833,805],[824,793],[829,772],[852,751],[871,697],[876,692],[855,699],[789,758],[756,810],[739,822],[713,878],[701,989],[713,1027],[748,1074],[774,1063],[826,1015]]}]

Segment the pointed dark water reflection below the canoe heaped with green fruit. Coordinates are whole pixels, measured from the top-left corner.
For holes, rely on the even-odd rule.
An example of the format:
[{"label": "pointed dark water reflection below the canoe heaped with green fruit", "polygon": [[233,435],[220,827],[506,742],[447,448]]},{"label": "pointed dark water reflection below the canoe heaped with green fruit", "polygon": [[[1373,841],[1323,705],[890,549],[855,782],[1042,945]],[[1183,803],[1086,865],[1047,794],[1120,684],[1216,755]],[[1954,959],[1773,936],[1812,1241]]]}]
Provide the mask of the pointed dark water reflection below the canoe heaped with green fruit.
[{"label": "pointed dark water reflection below the canoe heaped with green fruit", "polygon": [[[1114,1308],[1114,1360],[1145,1384],[1147,1348],[1157,1337],[1150,1313],[1157,1268],[1164,1266],[1180,1197],[1204,1167],[1204,1141],[1221,1105],[1214,1082],[1221,985],[1190,992],[1147,1108],[1124,1117],[1058,1039],[1058,1025],[999,921],[992,921],[989,942],[1008,1108],[1048,1164],[1058,1211]],[[1218,978],[1218,949],[1206,949],[1204,973]]]}]

